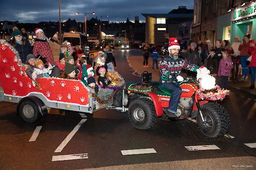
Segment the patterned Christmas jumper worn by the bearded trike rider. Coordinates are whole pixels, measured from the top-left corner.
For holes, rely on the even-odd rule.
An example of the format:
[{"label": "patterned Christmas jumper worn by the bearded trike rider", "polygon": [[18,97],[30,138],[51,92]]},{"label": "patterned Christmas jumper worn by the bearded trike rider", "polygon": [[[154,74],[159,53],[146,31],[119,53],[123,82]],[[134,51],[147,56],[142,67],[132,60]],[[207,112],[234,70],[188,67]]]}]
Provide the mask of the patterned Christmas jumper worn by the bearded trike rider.
[{"label": "patterned Christmas jumper worn by the bearded trike rider", "polygon": [[189,71],[194,71],[199,68],[198,65],[190,64],[186,62],[184,59],[178,58],[173,59],[170,56],[164,57],[159,62],[160,69],[160,80],[162,83],[164,82],[174,82],[176,77],[180,75],[181,69],[185,68]]}]

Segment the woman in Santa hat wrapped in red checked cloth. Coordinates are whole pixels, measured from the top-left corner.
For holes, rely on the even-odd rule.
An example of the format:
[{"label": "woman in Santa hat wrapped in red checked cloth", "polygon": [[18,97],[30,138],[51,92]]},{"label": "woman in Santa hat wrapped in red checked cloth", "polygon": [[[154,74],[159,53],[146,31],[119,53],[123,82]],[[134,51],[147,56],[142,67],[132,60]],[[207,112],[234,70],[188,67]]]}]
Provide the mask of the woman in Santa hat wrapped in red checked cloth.
[{"label": "woman in Santa hat wrapped in red checked cloth", "polygon": [[45,37],[41,28],[35,28],[35,42],[33,54],[36,58],[41,59],[44,64],[47,62],[54,64],[52,50],[49,46],[49,39]]}]

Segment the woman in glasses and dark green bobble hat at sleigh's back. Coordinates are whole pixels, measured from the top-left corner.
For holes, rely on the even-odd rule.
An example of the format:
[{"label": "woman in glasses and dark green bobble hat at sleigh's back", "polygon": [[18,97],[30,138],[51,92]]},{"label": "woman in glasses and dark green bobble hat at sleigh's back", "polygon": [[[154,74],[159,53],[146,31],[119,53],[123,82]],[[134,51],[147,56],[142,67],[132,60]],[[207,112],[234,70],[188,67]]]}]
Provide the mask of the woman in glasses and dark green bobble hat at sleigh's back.
[{"label": "woman in glasses and dark green bobble hat at sleigh's back", "polygon": [[20,30],[16,29],[13,31],[12,40],[9,40],[8,43],[19,52],[22,63],[26,64],[27,55],[33,53],[29,40],[23,38]]}]

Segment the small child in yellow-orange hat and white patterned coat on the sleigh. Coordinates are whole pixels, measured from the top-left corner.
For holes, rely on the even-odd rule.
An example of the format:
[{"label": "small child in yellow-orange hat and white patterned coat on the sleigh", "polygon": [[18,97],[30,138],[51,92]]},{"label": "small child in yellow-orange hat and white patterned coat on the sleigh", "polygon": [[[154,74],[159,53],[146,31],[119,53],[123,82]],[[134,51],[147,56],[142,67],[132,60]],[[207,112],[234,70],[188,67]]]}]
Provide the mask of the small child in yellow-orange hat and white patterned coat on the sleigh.
[{"label": "small child in yellow-orange hat and white patterned coat on the sleigh", "polygon": [[35,80],[38,74],[43,74],[44,77],[50,77],[49,74],[52,73],[52,65],[51,63],[48,64],[48,68],[44,67],[44,62],[41,59],[37,59],[35,61],[34,72],[32,73],[32,79]]}]

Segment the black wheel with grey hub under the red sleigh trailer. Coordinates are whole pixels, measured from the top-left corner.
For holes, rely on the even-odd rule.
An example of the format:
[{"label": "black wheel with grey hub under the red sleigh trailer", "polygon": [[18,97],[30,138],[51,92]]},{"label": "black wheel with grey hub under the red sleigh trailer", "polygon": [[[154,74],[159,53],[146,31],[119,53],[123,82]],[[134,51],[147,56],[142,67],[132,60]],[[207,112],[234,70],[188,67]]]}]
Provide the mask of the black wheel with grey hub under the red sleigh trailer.
[{"label": "black wheel with grey hub under the red sleigh trailer", "polygon": [[29,100],[20,103],[19,113],[22,119],[29,123],[35,122],[41,117],[36,105]]}]

